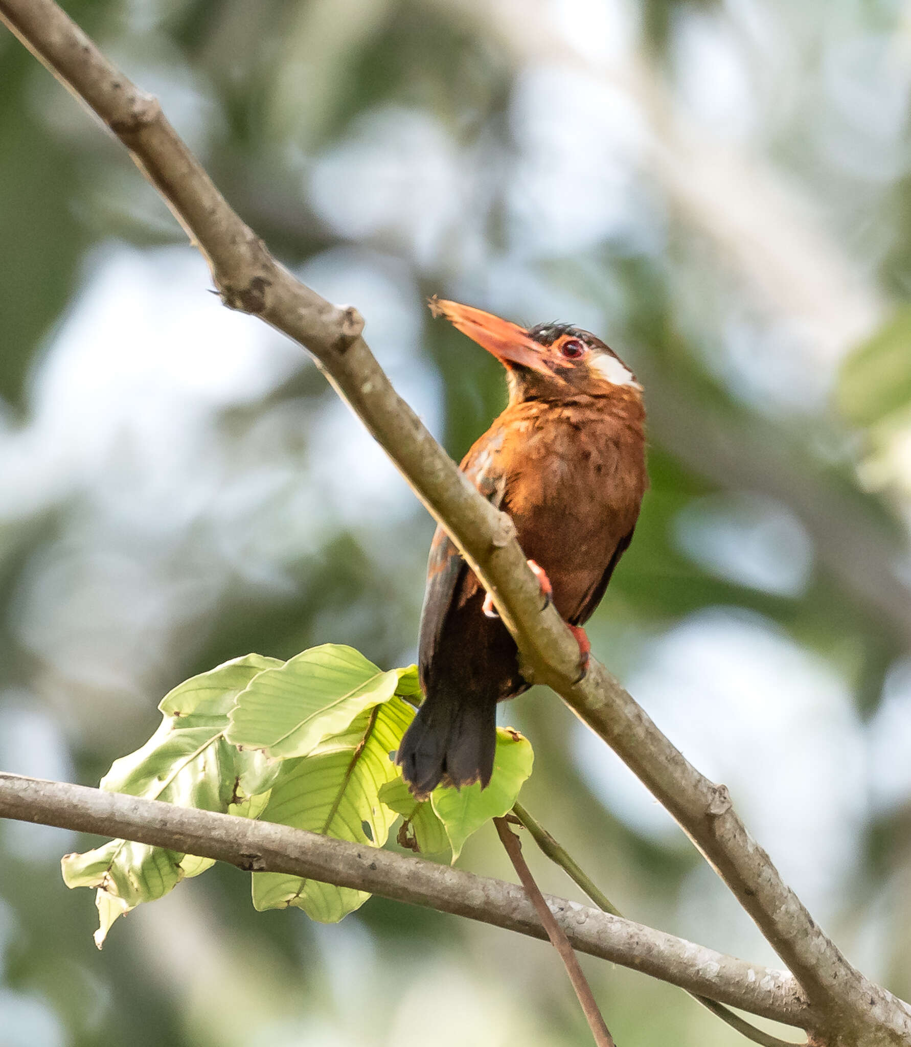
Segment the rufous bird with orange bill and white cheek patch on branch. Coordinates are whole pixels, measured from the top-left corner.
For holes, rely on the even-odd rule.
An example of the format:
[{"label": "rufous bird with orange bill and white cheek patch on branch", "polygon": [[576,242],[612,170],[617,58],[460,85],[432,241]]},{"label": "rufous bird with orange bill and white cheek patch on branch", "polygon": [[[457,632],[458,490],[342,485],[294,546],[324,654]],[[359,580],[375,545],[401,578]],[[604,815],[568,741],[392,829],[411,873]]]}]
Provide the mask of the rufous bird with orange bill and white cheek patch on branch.
[{"label": "rufous bird with orange bill and white cheek patch on branch", "polygon": [[[605,342],[573,325],[526,329],[457,302],[429,306],[506,369],[508,404],[460,469],[512,518],[546,601],[578,641],[584,674],[582,626],[632,540],[648,487],[642,385]],[[497,703],[530,685],[492,598],[442,526],[430,544],[418,670],[424,697],[396,754],[412,794],[485,788]]]}]

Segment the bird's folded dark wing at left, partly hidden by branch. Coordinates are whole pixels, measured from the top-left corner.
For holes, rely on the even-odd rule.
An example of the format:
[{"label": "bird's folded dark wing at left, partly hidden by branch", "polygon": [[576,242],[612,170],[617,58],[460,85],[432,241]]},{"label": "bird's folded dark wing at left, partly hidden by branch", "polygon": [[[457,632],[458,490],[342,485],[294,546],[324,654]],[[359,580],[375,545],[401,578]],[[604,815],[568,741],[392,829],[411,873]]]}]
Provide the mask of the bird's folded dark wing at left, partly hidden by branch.
[{"label": "bird's folded dark wing at left, partly hidden by branch", "polygon": [[[485,433],[465,455],[460,468],[491,505],[499,508],[506,490],[506,476],[501,468],[498,451],[504,431],[499,428]],[[452,539],[438,527],[430,543],[427,561],[427,587],[421,610],[421,631],[418,642],[421,684],[443,632],[446,616],[457,599],[468,564],[462,559]],[[425,688],[426,689],[426,688]]]}]

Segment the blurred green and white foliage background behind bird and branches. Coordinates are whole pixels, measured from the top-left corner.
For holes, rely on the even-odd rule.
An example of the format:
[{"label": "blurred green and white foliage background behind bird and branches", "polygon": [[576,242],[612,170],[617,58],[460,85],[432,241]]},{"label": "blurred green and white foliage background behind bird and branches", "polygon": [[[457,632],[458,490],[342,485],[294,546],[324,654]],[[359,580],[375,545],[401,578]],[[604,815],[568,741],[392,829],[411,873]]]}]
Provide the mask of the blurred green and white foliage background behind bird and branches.
[{"label": "blurred green and white foliage background behind bird and branches", "polygon": [[[636,370],[652,488],[594,649],[911,997],[911,4],[66,7],[282,260],[357,305],[454,456],[504,384],[428,294],[577,322]],[[313,363],[210,287],[0,30],[4,770],[95,784],[172,686],[249,650],[415,658],[431,521]],[[535,747],[527,806],[624,912],[775,963],[557,698],[503,719]],[[257,915],[229,868],[97,953],[59,873],[90,845],[0,826],[3,1047],[588,1042],[543,944],[377,898],[336,927]],[[512,875],[490,827],[461,864]],[[585,965],[624,1047],[746,1042]]]}]

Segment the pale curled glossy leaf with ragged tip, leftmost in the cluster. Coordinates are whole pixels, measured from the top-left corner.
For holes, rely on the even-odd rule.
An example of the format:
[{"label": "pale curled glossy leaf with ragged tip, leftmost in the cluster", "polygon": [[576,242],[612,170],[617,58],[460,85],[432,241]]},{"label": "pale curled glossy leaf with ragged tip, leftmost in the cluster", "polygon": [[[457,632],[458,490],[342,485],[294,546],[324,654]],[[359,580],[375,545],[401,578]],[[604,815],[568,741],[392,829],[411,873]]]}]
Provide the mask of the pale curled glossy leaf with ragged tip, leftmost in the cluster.
[{"label": "pale curled glossy leaf with ragged tip, leftmost in the cluster", "polygon": [[[237,695],[258,673],[281,664],[248,654],[180,684],[161,700],[163,717],[155,734],[135,753],[115,760],[101,787],[182,807],[255,817],[281,764],[261,753],[239,753],[224,731]],[[61,863],[68,887],[97,888],[99,949],[117,916],[140,901],[162,897],[212,864],[209,859],[126,840],[67,854]]]}]

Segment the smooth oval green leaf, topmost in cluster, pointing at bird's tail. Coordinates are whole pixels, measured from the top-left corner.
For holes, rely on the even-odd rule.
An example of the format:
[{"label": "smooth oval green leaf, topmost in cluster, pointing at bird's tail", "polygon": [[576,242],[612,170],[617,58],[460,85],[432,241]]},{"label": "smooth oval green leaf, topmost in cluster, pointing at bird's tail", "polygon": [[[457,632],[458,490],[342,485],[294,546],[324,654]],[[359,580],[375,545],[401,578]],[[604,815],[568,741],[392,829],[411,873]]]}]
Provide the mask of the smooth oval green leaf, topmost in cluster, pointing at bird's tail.
[{"label": "smooth oval green leaf, topmost in cluster, pointing at bird's tail", "polygon": [[364,710],[412,686],[414,667],[383,672],[353,647],[324,644],[260,673],[238,695],[227,738],[275,759],[307,756]]}]

